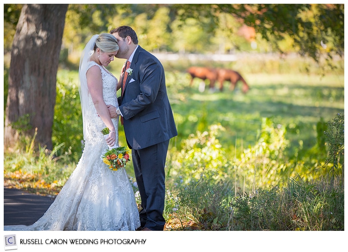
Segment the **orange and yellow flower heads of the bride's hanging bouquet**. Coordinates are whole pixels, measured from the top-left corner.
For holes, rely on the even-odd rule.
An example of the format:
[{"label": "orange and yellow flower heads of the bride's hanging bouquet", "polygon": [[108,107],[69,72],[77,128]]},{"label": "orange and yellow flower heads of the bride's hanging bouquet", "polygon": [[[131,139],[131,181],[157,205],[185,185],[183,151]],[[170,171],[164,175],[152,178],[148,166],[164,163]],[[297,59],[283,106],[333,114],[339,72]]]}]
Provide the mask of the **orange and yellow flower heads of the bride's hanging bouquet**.
[{"label": "orange and yellow flower heads of the bride's hanging bouquet", "polygon": [[111,171],[117,171],[119,168],[125,167],[130,160],[129,149],[127,147],[113,148],[102,154],[101,158]]}]

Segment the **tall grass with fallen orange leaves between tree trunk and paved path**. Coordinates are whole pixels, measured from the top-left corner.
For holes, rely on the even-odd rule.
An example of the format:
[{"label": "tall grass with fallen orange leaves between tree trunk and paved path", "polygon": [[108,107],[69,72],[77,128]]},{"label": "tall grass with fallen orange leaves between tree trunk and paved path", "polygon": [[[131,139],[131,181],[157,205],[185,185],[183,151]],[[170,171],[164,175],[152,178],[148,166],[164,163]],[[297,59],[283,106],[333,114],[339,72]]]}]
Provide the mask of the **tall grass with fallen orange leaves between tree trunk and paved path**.
[{"label": "tall grass with fallen orange leaves between tree trunk and paved path", "polygon": [[57,156],[63,144],[52,151],[46,146],[34,149],[32,139],[23,138],[14,149],[4,152],[4,184],[42,195],[56,195],[75,168],[64,156]]}]

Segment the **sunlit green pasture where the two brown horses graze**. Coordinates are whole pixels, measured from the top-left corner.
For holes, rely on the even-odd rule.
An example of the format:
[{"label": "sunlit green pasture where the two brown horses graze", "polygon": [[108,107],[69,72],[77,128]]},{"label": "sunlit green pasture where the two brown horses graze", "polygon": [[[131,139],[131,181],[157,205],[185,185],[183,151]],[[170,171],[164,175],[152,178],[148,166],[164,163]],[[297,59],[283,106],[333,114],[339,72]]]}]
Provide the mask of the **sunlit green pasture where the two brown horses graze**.
[{"label": "sunlit green pasture where the two brown horses graze", "polygon": [[294,152],[302,144],[305,149],[313,147],[318,121],[327,122],[344,111],[343,76],[247,74],[244,78],[251,87],[247,94],[238,88],[241,83],[230,91],[228,82],[223,92],[201,93],[201,80],[195,79],[190,88],[187,75],[169,75],[168,92],[180,136],[221,123],[226,132],[220,142],[234,153],[236,145],[241,151],[258,140],[262,118],[267,117],[286,125]]}]

